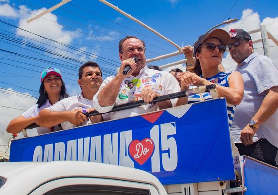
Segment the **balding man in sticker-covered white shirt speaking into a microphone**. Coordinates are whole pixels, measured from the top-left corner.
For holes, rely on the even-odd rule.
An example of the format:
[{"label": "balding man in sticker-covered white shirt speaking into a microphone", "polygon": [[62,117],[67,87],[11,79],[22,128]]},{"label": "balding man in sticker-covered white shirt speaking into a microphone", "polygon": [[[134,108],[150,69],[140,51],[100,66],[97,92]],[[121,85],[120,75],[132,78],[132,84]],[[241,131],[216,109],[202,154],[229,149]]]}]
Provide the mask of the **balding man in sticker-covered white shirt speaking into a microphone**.
[{"label": "balding man in sticker-covered white shirt speaking into a microphone", "polygon": [[[116,76],[106,78],[93,98],[94,108],[100,113],[112,110],[114,105],[143,99],[151,102],[155,97],[180,91],[178,81],[166,71],[149,69],[146,66],[146,47],[143,40],[126,36],[119,41],[120,70]],[[128,82],[127,82],[128,81]],[[130,84],[133,83],[133,87]],[[131,83],[131,84],[132,84]],[[170,108],[177,100],[171,99],[156,104],[142,105],[106,115],[104,120],[130,117]]]}]

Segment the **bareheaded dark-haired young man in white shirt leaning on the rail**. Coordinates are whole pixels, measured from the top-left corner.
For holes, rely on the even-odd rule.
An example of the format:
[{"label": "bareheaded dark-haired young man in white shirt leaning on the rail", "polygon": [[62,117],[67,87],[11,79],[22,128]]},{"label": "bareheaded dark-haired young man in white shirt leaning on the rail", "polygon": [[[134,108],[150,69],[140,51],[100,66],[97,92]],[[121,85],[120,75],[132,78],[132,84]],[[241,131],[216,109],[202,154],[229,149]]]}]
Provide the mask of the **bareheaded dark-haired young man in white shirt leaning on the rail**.
[{"label": "bareheaded dark-haired young man in white shirt leaning on the rail", "polygon": [[36,118],[38,125],[51,127],[61,123],[63,129],[70,129],[102,120],[101,115],[91,117],[90,120],[84,115],[85,112],[92,111],[92,98],[103,81],[99,65],[92,61],[86,62],[80,67],[78,76],[82,92],[41,110]]}]

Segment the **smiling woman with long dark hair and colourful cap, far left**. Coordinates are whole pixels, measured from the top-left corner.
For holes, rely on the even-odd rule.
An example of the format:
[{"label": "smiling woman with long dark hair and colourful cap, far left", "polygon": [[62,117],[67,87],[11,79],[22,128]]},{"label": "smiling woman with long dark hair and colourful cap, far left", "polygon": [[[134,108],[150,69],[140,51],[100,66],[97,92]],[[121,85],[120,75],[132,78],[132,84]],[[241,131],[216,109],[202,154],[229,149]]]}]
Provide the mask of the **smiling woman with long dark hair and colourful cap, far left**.
[{"label": "smiling woman with long dark hair and colourful cap, far left", "polygon": [[[40,96],[37,104],[22,113],[19,117],[11,120],[7,126],[7,132],[21,132],[25,127],[35,123],[40,110],[52,106],[61,99],[69,97],[59,69],[48,67],[42,71],[39,93]],[[59,126],[51,128],[38,127],[37,132],[38,134],[44,134],[60,129]]]}]

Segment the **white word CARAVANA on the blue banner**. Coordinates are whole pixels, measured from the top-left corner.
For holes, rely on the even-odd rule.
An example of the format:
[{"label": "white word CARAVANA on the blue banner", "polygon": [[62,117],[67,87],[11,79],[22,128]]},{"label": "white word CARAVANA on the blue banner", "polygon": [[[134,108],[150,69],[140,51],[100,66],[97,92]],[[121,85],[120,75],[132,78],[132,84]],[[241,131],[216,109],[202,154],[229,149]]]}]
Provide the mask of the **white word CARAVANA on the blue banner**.
[{"label": "white word CARAVANA on the blue banner", "polygon": [[119,134],[119,144],[117,132],[103,135],[103,144],[101,144],[101,136],[94,136],[68,140],[67,144],[64,142],[46,144],[44,148],[39,145],[34,150],[33,162],[77,160],[134,168],[134,162],[128,156],[128,146],[132,142],[132,131],[123,131]]}]

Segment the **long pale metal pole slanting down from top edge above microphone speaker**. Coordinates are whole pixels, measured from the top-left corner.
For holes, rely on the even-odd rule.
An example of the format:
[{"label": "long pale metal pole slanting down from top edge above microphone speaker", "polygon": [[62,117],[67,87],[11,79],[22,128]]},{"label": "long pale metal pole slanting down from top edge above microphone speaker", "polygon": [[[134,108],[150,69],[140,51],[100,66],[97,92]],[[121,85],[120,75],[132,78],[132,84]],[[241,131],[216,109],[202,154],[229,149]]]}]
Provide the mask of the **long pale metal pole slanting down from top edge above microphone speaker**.
[{"label": "long pale metal pole slanting down from top edge above microphone speaker", "polygon": [[141,22],[140,20],[137,20],[136,18],[132,17],[130,14],[122,11],[121,9],[119,9],[118,7],[116,7],[115,5],[107,2],[106,0],[99,0],[100,2],[108,5],[109,7],[115,9],[116,11],[118,11],[119,13],[123,14],[124,16],[130,18],[131,20],[139,23],[140,25],[144,26],[145,28],[147,28],[148,30],[152,31],[153,33],[155,33],[156,35],[158,35],[159,37],[161,37],[162,39],[168,41],[169,43],[171,43],[172,45],[174,45],[175,47],[177,47],[177,49],[179,51],[181,51],[181,47],[179,47],[179,45],[177,45],[176,43],[174,43],[173,41],[171,41],[170,39],[164,37],[163,35],[161,35],[159,32],[155,31],[154,29],[152,29],[151,27],[147,26],[146,24],[144,24],[143,22]]}]

